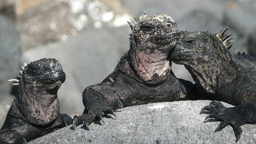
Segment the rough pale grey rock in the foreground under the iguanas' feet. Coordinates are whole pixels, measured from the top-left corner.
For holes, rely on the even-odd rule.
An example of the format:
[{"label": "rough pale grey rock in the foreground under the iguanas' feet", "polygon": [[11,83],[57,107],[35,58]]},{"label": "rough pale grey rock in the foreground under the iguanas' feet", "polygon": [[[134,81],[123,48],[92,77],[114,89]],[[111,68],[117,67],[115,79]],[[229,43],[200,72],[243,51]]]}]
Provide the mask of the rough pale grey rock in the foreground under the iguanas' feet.
[{"label": "rough pale grey rock in the foreground under the iguanas' feet", "polygon": [[[86,144],[86,143],[229,143],[236,144],[232,127],[229,125],[214,133],[220,122],[203,123],[207,114],[199,114],[204,105],[211,101],[178,101],[126,107],[113,115],[103,117],[105,125],[96,120],[89,125],[90,131],[81,128],[71,129],[71,125],[35,139],[33,144]],[[225,106],[230,106],[225,103]],[[213,119],[207,120],[213,121]],[[256,127],[253,124],[242,126],[243,133],[237,144],[256,142]]]}]

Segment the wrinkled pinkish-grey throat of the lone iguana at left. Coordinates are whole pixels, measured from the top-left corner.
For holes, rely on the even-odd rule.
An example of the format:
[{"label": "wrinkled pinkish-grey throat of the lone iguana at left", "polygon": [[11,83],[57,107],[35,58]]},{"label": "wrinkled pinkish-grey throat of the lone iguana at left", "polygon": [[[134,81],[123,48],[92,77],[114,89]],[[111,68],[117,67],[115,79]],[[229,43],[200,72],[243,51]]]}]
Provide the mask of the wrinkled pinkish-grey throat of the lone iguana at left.
[{"label": "wrinkled pinkish-grey throat of the lone iguana at left", "polygon": [[35,125],[47,125],[55,121],[59,115],[60,106],[57,97],[58,89],[43,90],[31,84],[19,85],[18,107],[27,121]]}]

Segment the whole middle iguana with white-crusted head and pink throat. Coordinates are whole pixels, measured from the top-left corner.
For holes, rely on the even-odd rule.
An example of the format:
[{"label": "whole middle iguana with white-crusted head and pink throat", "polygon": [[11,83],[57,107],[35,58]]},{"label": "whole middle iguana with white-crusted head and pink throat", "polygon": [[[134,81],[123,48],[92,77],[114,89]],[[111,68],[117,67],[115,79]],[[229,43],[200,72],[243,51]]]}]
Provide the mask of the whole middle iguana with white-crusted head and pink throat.
[{"label": "whole middle iguana with white-crusted head and pink throat", "polygon": [[89,129],[88,124],[96,117],[104,123],[102,116],[116,116],[113,109],[118,106],[185,100],[192,92],[193,84],[171,71],[168,55],[178,34],[172,18],[160,13],[148,17],[145,12],[131,21],[130,49],[101,83],[85,88],[85,110],[83,115],[74,116],[74,129],[82,121]]}]

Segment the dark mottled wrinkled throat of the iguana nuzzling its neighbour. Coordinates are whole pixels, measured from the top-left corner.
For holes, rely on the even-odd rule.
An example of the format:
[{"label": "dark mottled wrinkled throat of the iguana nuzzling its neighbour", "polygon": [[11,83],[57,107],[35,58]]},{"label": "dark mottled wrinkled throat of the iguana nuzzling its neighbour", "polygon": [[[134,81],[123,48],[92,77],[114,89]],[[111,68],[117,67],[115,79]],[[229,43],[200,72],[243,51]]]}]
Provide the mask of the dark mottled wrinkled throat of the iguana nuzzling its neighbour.
[{"label": "dark mottled wrinkled throat of the iguana nuzzling its neighbour", "polygon": [[231,82],[236,77],[236,72],[232,66],[232,60],[217,58],[216,55],[207,57],[204,61],[184,62],[185,68],[191,74],[193,80],[203,91],[218,95],[218,88],[225,83]]}]

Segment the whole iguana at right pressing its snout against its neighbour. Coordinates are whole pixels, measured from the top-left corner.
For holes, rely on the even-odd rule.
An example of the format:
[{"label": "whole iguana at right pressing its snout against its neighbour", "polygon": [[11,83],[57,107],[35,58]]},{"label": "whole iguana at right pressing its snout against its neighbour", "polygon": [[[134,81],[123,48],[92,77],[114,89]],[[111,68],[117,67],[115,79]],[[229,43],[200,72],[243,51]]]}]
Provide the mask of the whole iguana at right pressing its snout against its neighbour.
[{"label": "whole iguana at right pressing its snout against its neighbour", "polygon": [[[203,94],[215,99],[200,114],[211,111],[205,120],[222,121],[215,132],[230,124],[237,142],[242,134],[240,126],[256,122],[256,59],[229,51],[233,38],[229,38],[227,29],[216,34],[180,32],[170,58],[185,66]],[[235,107],[226,108],[220,101]]]}]

